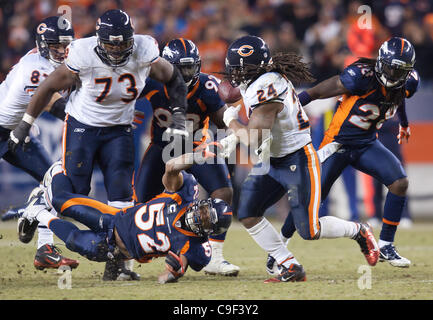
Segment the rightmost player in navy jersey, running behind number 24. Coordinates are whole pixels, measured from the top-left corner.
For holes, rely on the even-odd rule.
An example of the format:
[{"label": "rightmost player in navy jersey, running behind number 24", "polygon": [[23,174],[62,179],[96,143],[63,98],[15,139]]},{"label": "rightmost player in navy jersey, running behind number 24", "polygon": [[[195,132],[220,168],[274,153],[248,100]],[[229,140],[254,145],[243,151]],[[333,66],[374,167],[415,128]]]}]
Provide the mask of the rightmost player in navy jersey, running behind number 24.
[{"label": "rightmost player in navy jersey, running behind number 24", "polygon": [[[302,105],[315,99],[341,96],[318,154],[322,162],[322,200],[348,165],[373,176],[388,188],[379,237],[380,261],[409,267],[394,246],[394,237],[407,199],[406,172],[391,151],[377,140],[377,130],[396,113],[400,118],[399,143],[410,137],[405,99],[412,97],[419,76],[414,70],[415,50],[404,38],[393,37],[379,49],[377,59],[361,58],[339,76],[299,94]],[[294,233],[291,214],[282,234]]]}]

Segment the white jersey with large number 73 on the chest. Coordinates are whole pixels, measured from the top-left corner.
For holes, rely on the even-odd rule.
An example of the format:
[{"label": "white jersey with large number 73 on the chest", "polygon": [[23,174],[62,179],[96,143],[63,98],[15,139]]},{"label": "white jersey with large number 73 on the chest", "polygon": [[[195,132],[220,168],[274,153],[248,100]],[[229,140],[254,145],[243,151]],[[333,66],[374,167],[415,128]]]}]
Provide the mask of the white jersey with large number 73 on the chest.
[{"label": "white jersey with large number 73 on the chest", "polygon": [[134,36],[134,49],[124,66],[111,67],[97,55],[96,37],[78,39],[67,49],[66,66],[81,85],[71,93],[66,113],[95,127],[128,125],[150,67],[159,57],[158,44],[146,35]]}]

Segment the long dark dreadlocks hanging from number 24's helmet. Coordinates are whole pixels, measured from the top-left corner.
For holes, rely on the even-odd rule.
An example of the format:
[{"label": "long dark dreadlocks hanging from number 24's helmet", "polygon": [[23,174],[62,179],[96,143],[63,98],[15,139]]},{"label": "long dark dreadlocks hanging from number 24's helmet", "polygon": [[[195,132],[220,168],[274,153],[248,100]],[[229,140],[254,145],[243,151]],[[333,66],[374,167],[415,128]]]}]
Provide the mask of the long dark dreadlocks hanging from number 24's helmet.
[{"label": "long dark dreadlocks hanging from number 24's helmet", "polygon": [[272,57],[272,63],[264,65],[245,64],[243,67],[232,70],[231,73],[222,72],[225,78],[242,82],[250,80],[253,82],[262,74],[267,72],[278,72],[286,76],[292,83],[310,83],[315,79],[311,74],[308,64],[302,61],[302,57],[294,52],[279,52]]}]

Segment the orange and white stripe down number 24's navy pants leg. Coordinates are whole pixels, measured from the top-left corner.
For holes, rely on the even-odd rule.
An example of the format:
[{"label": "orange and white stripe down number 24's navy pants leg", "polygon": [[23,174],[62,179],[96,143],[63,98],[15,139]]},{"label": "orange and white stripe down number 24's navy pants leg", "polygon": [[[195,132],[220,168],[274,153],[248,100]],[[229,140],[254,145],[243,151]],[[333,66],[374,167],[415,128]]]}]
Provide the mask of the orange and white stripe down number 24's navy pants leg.
[{"label": "orange and white stripe down number 24's navy pants leg", "polygon": [[310,175],[310,202],[308,204],[308,218],[310,222],[310,236],[314,238],[320,230],[319,207],[321,200],[320,162],[312,144],[304,147],[308,159],[308,171]]}]

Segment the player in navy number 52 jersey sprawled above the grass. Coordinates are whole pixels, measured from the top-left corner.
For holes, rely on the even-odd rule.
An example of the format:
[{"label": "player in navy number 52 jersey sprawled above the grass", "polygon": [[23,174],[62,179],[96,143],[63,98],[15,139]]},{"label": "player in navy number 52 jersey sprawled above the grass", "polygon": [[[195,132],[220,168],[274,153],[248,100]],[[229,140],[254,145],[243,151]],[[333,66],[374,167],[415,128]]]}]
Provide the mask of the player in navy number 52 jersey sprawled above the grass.
[{"label": "player in navy number 52 jersey sprawled above the grass", "polygon": [[[71,181],[58,161],[47,171],[44,187],[36,188],[21,219],[32,226],[29,230],[35,230],[39,223],[46,225],[68,249],[92,261],[135,259],[145,263],[165,256],[167,268],[158,281],[174,282],[188,266],[200,271],[209,263],[212,250],[208,236],[227,231],[232,221],[231,208],[224,201],[198,200],[198,184],[184,171],[197,157],[203,154],[186,153],[168,161],[162,177],[164,192],[124,209],[73,193]],[[80,230],[74,223],[52,215],[48,211],[51,207],[90,230]],[[117,270],[117,274],[121,272],[128,270]],[[129,273],[137,280],[134,272]]]}]

